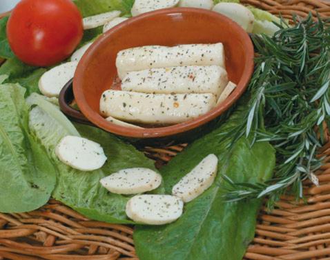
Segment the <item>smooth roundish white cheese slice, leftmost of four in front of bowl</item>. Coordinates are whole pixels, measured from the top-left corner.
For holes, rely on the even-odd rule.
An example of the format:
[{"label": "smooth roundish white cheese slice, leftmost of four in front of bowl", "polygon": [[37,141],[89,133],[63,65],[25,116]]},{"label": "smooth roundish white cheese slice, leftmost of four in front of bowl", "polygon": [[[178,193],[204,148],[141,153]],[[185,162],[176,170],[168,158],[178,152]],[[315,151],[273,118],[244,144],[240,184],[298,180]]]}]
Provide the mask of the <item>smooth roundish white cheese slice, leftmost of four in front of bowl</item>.
[{"label": "smooth roundish white cheese slice, leftmost of four in front of bowl", "polygon": [[97,170],[106,162],[106,155],[99,143],[72,135],[59,141],[55,153],[63,163],[82,171]]}]

